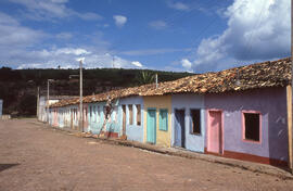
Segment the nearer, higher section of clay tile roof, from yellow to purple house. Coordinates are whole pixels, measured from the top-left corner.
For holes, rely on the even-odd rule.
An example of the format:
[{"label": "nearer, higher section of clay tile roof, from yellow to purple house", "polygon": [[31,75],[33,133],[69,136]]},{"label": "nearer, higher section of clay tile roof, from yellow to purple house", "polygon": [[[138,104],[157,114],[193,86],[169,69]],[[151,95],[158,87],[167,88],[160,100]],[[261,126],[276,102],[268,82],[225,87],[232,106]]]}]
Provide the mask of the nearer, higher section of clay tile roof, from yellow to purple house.
[{"label": "nearer, higher section of clay tile roof, from yellow to purple house", "polygon": [[217,73],[205,73],[178,80],[162,82],[140,96],[168,93],[219,93],[255,88],[283,87],[291,82],[291,59],[263,62]]}]

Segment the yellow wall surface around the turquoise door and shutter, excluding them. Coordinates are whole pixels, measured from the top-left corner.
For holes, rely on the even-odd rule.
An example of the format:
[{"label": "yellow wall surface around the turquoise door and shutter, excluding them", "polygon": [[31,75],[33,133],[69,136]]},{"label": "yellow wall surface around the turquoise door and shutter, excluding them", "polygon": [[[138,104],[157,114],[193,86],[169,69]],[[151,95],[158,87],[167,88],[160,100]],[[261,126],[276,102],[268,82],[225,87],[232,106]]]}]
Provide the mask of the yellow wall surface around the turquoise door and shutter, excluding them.
[{"label": "yellow wall surface around the turquoise door and shutter, excluding them", "polygon": [[[143,97],[143,142],[146,142],[146,114],[148,109],[156,109],[156,144],[170,147],[171,139],[171,96]],[[160,109],[168,110],[168,131],[158,130]]]}]

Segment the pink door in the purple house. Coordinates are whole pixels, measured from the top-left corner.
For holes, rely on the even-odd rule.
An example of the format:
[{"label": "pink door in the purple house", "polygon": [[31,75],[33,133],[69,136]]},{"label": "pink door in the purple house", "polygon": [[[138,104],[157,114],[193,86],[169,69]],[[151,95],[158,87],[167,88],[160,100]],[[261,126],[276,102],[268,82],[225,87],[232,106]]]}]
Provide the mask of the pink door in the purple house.
[{"label": "pink door in the purple house", "polygon": [[208,130],[207,130],[207,152],[220,154],[222,150],[221,140],[221,112],[208,112]]}]

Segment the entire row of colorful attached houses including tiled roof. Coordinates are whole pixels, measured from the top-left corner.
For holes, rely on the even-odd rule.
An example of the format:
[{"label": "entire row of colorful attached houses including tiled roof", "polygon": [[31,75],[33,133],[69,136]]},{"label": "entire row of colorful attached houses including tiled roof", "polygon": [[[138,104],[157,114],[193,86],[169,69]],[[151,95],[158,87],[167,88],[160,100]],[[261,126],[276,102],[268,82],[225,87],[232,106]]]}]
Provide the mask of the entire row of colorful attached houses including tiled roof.
[{"label": "entire row of colorful attached houses including tiled roof", "polygon": [[[84,130],[286,165],[290,67],[282,59],[85,97]],[[80,130],[78,103],[52,104],[49,124]]]}]

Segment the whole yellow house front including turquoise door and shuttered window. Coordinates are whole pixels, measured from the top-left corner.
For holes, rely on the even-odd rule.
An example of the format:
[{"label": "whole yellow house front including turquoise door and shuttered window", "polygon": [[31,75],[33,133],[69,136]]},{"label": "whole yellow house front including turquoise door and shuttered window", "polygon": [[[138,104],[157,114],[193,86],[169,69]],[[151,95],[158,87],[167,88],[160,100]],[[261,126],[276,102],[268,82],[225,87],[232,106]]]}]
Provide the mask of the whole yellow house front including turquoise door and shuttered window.
[{"label": "whole yellow house front including turquoise door and shuttered window", "polygon": [[143,142],[170,148],[171,96],[143,97]]}]

